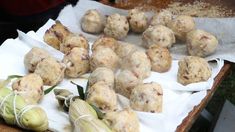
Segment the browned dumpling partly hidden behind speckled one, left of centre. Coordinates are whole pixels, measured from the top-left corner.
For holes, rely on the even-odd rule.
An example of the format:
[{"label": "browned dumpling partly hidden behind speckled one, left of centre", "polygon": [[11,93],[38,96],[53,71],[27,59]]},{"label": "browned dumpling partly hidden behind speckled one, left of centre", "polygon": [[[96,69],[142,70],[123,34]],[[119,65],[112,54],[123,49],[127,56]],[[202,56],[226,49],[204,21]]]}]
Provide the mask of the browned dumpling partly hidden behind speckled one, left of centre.
[{"label": "browned dumpling partly hidden behind speckled one, left of centre", "polygon": [[89,50],[89,44],[83,35],[70,34],[65,38],[63,43],[60,45],[60,51],[67,54],[74,47],[84,48]]}]

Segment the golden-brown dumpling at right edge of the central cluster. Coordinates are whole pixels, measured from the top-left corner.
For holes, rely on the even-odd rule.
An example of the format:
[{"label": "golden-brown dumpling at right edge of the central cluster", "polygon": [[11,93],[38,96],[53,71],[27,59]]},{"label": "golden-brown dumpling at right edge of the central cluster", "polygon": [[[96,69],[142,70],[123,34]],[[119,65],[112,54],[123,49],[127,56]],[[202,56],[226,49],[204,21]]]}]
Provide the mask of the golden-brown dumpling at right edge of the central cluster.
[{"label": "golden-brown dumpling at right edge of the central cluster", "polygon": [[152,45],[146,54],[151,61],[153,71],[162,73],[167,72],[171,68],[172,57],[167,48]]}]

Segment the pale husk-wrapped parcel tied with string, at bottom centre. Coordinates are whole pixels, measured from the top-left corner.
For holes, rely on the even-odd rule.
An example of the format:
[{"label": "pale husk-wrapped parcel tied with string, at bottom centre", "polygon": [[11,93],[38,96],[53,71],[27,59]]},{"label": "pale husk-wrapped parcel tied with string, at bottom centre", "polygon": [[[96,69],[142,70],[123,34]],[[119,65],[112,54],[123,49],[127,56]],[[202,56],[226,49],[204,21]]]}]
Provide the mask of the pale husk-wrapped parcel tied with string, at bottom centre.
[{"label": "pale husk-wrapped parcel tied with string, at bottom centre", "polygon": [[69,118],[76,132],[111,132],[109,127],[98,119],[96,111],[83,100],[76,99],[71,103]]}]

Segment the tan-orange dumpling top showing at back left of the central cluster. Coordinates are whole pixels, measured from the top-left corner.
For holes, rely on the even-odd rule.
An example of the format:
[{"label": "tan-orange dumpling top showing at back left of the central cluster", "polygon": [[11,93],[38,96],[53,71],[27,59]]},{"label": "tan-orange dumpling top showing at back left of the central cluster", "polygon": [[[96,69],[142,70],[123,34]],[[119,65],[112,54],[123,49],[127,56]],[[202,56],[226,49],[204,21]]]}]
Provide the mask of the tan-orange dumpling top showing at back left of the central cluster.
[{"label": "tan-orange dumpling top showing at back left of the central cluster", "polygon": [[111,37],[100,37],[92,45],[92,51],[95,51],[99,48],[110,48],[113,51],[117,49],[118,41]]}]

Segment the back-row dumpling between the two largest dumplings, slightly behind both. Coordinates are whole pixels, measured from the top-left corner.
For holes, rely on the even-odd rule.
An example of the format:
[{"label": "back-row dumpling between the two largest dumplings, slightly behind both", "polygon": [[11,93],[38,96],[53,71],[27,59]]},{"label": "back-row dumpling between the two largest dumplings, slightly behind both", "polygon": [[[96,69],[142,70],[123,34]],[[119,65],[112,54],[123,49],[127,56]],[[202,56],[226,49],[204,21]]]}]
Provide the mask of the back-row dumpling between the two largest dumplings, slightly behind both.
[{"label": "back-row dumpling between the two largest dumplings, slightly behind both", "polygon": [[186,34],[195,29],[195,22],[191,16],[181,15],[173,19],[168,27],[173,30],[177,39],[186,40]]}]

